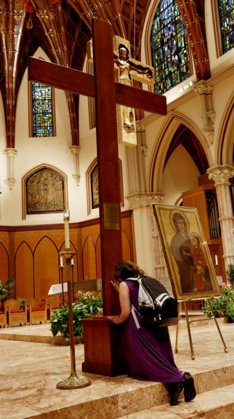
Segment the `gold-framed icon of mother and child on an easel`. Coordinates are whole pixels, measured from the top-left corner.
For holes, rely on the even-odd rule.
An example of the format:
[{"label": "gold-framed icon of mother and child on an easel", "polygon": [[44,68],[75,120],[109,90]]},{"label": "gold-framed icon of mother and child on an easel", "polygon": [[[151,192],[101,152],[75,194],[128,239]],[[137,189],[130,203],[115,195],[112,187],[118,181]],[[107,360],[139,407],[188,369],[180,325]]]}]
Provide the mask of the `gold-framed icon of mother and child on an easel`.
[{"label": "gold-framed icon of mother and child on an easel", "polygon": [[153,210],[175,298],[220,295],[197,209],[153,204]]}]

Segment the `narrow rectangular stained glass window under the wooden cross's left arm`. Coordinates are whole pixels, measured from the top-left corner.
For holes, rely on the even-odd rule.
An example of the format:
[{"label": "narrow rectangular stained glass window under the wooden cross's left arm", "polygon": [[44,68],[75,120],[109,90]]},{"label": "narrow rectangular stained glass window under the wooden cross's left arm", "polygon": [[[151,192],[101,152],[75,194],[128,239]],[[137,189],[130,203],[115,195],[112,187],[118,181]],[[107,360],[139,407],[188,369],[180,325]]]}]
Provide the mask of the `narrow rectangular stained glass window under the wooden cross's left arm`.
[{"label": "narrow rectangular stained glass window under the wooden cross's left arm", "polygon": [[52,137],[52,88],[32,83],[33,137]]}]

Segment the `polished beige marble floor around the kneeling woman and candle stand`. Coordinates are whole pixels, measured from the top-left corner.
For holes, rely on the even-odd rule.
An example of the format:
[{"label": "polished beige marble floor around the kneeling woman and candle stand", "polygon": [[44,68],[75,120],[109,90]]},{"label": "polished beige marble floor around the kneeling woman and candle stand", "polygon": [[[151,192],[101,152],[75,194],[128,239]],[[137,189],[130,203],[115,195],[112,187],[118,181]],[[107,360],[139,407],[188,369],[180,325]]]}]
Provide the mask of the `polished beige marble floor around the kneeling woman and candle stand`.
[{"label": "polished beige marble floor around the kneeling woman and candle stand", "polygon": [[[189,412],[202,409],[206,403],[202,397],[208,394],[205,392],[211,392],[215,401],[215,392],[220,389],[229,395],[234,406],[234,324],[220,324],[228,347],[225,353],[215,324],[197,322],[197,327],[191,329],[195,360],[191,359],[187,328],[181,327],[175,361],[181,370],[194,375],[198,395],[191,403],[181,399],[175,408],[168,404],[167,391],[161,383],[137,381],[126,375],[82,373],[82,344],[76,345],[77,374],[91,380],[91,386],[56,389],[56,384],[70,375],[70,348],[35,341],[35,336],[40,336],[41,342],[46,336],[49,338],[49,329],[49,324],[0,329],[0,419],[195,418]],[[170,334],[174,347],[175,329]],[[30,335],[32,341],[17,340],[18,336],[29,339]],[[183,414],[179,408],[183,408]]]}]

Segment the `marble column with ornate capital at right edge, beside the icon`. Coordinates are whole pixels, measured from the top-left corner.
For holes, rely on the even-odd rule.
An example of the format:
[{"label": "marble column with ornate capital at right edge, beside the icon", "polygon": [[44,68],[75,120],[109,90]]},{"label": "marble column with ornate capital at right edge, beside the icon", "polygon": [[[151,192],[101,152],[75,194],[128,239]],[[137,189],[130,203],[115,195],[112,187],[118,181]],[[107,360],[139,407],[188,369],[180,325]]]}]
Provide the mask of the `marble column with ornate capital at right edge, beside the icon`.
[{"label": "marble column with ornate capital at right edge, beside the icon", "polygon": [[234,215],[230,196],[230,181],[234,176],[234,167],[228,164],[216,165],[207,170],[209,179],[215,181],[219,221],[221,226],[224,262],[228,265],[234,263]]}]

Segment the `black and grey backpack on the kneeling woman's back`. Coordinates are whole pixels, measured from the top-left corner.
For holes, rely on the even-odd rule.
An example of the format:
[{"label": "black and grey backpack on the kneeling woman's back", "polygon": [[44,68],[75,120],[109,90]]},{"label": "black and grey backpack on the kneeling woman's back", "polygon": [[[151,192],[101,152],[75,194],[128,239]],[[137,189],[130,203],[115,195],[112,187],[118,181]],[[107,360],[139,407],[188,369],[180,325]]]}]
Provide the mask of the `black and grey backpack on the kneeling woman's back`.
[{"label": "black and grey backpack on the kneeling woman's back", "polygon": [[138,309],[132,304],[132,314],[137,329],[140,328],[140,325],[135,311],[140,315],[141,324],[145,327],[163,327],[177,324],[177,301],[168,294],[160,281],[150,276],[127,278],[126,281],[139,284]]}]

